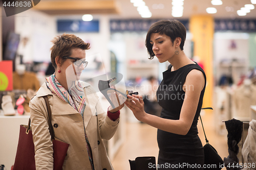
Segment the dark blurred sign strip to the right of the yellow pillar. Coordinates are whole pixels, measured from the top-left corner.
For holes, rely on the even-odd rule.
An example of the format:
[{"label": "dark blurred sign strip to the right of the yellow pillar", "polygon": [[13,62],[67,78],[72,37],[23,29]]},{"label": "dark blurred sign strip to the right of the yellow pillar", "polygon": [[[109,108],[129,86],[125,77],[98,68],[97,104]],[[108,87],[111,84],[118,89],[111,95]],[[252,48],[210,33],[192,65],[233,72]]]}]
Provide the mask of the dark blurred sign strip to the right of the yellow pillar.
[{"label": "dark blurred sign strip to the right of the yellow pillar", "polygon": [[256,32],[256,19],[216,19],[215,31]]}]

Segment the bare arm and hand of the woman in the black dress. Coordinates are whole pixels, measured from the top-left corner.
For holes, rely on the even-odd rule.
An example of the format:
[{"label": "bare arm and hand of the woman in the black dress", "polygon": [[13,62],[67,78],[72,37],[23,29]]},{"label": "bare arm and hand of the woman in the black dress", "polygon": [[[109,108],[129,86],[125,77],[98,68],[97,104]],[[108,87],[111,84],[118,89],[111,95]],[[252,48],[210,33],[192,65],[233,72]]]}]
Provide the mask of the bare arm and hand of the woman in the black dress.
[{"label": "bare arm and hand of the woman in the black dress", "polygon": [[133,102],[126,101],[125,104],[133,111],[135,117],[141,122],[166,132],[186,135],[193,123],[204,84],[205,80],[201,71],[193,69],[188,73],[183,86],[188,88],[184,89],[185,99],[181,108],[179,120],[165,119],[147,114],[144,111],[142,96],[139,95],[129,95],[129,98],[133,99]]}]

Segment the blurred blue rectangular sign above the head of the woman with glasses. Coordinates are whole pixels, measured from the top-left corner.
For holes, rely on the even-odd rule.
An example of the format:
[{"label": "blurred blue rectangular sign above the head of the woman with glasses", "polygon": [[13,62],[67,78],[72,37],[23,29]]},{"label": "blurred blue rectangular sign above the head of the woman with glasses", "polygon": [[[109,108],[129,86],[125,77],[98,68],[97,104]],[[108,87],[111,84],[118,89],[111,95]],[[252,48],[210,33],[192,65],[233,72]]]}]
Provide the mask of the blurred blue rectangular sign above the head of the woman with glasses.
[{"label": "blurred blue rectangular sign above the head of the woman with glasses", "polygon": [[57,20],[58,32],[99,32],[99,21]]}]

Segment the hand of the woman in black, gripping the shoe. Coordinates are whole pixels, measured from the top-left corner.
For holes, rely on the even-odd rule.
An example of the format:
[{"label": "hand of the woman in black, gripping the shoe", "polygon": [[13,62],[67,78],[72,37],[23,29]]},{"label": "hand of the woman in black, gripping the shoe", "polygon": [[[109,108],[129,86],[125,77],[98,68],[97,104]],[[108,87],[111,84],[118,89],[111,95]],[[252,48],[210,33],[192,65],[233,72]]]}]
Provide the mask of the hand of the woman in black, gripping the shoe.
[{"label": "hand of the woman in black, gripping the shoe", "polygon": [[147,113],[144,111],[144,102],[141,95],[127,95],[125,105],[133,111],[138,120],[144,122]]}]

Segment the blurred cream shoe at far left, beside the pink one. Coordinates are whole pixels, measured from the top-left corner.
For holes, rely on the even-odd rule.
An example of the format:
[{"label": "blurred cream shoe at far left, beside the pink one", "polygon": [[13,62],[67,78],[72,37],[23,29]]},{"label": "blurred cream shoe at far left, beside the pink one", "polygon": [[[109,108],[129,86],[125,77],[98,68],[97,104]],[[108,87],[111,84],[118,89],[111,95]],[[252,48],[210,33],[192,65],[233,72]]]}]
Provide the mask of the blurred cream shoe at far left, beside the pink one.
[{"label": "blurred cream shoe at far left, beside the pink one", "polygon": [[11,95],[4,95],[2,98],[2,109],[6,116],[15,115],[15,110],[12,104]]}]

